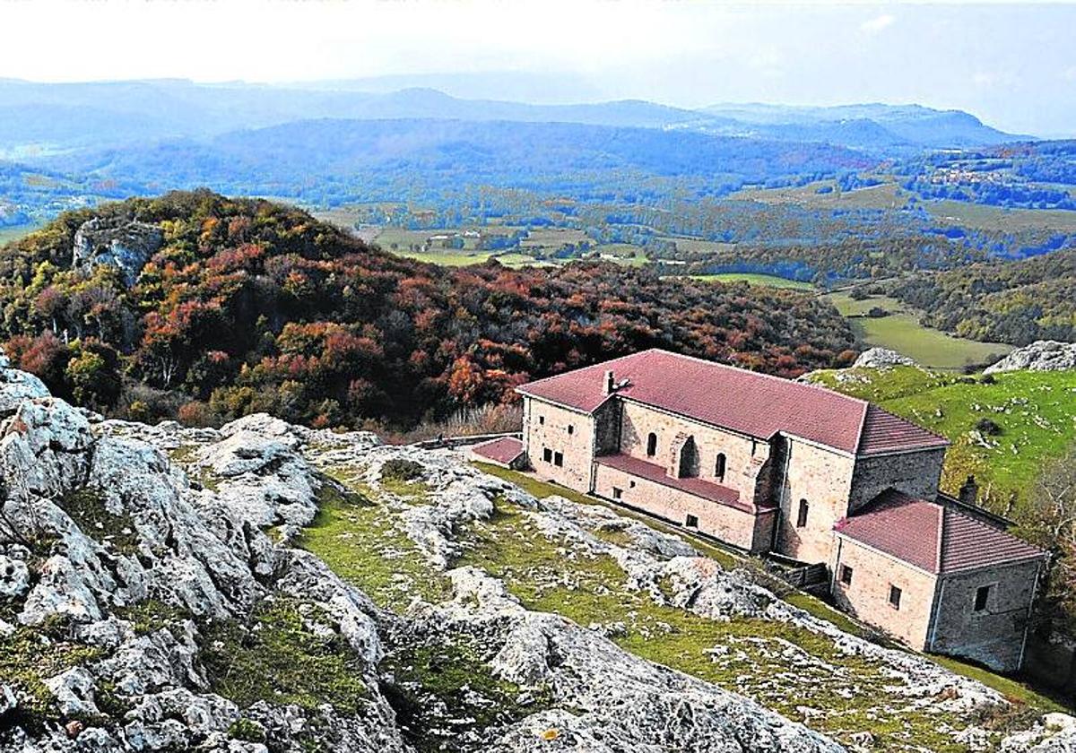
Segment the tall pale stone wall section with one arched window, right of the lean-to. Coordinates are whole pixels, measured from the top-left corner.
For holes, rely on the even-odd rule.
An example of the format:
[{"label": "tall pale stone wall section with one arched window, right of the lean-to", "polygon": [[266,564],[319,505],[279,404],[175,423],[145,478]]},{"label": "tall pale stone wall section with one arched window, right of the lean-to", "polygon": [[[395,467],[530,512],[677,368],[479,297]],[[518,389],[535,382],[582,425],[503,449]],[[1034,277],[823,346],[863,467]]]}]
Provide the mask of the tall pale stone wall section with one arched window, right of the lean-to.
[{"label": "tall pale stone wall section with one arched window, right of the lean-to", "polygon": [[[847,514],[854,460],[831,450],[789,438],[788,468],[775,468],[780,502],[777,551],[805,563],[829,563],[834,524]],[[807,524],[797,525],[799,501],[807,501]]]}]

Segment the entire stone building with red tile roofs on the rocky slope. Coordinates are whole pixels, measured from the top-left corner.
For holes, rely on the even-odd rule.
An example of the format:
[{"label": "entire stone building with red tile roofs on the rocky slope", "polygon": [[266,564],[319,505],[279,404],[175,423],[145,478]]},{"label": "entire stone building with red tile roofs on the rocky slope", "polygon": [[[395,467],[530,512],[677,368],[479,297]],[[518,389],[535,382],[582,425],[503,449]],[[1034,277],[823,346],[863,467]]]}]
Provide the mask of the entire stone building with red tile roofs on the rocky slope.
[{"label": "entire stone building with red tile roofs on the rocky slope", "polygon": [[476,447],[753,554],[824,564],[834,601],[915,649],[1011,671],[1045,554],[938,491],[947,440],[838,393],[645,351],[519,387]]}]

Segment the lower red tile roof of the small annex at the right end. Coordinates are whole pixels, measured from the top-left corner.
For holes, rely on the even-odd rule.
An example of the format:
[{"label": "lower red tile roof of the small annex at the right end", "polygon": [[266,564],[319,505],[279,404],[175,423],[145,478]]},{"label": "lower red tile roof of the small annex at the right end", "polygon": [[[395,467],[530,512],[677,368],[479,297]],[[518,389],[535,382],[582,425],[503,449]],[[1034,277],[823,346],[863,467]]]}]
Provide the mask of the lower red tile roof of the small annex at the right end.
[{"label": "lower red tile roof of the small annex at the right end", "polygon": [[1045,556],[988,523],[896,489],[882,492],[834,529],[935,574]]}]

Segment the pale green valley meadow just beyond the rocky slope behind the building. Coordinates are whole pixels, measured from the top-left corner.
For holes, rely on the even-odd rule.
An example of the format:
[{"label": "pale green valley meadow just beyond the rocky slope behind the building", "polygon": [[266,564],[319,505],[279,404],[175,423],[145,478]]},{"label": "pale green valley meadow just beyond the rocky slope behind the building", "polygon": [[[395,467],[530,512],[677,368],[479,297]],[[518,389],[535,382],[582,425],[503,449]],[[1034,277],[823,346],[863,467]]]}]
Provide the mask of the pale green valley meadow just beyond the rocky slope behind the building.
[{"label": "pale green valley meadow just beyond the rocky slope behind the building", "polygon": [[[858,301],[847,293],[831,293],[823,297],[848,317],[855,333],[865,343],[889,347],[928,368],[959,370],[1013,350],[1005,343],[965,340],[924,327],[915,312],[895,298],[873,296]],[[866,316],[866,312],[874,307],[891,313],[878,318]]]}]

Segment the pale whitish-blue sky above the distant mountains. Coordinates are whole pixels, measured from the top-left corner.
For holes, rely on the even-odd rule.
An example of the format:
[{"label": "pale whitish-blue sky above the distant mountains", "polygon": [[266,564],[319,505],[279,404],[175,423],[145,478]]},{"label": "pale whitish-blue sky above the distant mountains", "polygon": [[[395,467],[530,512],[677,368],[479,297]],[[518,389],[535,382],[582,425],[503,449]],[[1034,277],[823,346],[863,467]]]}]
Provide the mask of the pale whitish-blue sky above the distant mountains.
[{"label": "pale whitish-blue sky above the distant mountains", "polygon": [[[0,77],[525,72],[546,101],[918,102],[1076,133],[1076,4],[0,0]],[[491,93],[491,95],[496,93]]]}]

